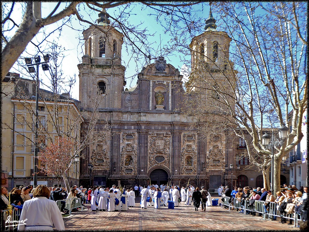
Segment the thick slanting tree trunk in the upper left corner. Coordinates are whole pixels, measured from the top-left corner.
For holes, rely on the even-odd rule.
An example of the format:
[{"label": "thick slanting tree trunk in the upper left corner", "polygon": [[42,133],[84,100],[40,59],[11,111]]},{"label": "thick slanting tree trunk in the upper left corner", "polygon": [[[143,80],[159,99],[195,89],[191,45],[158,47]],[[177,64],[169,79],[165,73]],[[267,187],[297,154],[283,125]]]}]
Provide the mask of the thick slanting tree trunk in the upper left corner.
[{"label": "thick slanting tree trunk in the upper left corner", "polygon": [[19,25],[15,35],[2,50],[2,80],[10,71],[19,56],[23,53],[28,43],[40,31],[41,27],[41,24],[39,22],[36,23],[33,18],[32,2],[28,2],[22,23]]}]

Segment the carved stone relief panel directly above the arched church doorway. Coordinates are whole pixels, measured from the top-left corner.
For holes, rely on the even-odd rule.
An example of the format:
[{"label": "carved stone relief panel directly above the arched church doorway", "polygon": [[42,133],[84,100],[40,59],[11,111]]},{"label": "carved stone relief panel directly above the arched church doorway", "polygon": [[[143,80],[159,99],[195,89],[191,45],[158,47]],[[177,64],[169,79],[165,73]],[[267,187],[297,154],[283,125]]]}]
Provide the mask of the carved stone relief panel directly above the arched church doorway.
[{"label": "carved stone relief panel directly above the arched church doorway", "polygon": [[155,166],[166,167],[171,171],[171,133],[169,132],[148,134],[147,172]]}]

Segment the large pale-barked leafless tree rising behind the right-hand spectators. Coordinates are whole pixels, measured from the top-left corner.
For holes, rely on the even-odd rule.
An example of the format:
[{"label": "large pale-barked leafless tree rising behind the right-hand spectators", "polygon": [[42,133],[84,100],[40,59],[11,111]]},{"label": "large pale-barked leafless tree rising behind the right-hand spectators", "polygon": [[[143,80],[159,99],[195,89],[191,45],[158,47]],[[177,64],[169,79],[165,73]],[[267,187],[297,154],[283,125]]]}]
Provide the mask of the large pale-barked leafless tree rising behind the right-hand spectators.
[{"label": "large pale-barked leafless tree rising behind the right-hand spectators", "polygon": [[[248,157],[263,171],[268,188],[271,151],[263,146],[262,135],[277,131],[283,124],[290,128],[288,138],[274,150],[273,186],[277,191],[282,159],[303,137],[308,84],[307,3],[214,5],[214,14],[221,17],[221,30],[232,39],[230,57],[223,57],[227,66],[222,68],[213,57],[195,54],[197,66],[186,84],[192,105],[187,113],[204,131],[233,131],[243,138],[250,145]],[[223,47],[218,49],[224,51]]]}]

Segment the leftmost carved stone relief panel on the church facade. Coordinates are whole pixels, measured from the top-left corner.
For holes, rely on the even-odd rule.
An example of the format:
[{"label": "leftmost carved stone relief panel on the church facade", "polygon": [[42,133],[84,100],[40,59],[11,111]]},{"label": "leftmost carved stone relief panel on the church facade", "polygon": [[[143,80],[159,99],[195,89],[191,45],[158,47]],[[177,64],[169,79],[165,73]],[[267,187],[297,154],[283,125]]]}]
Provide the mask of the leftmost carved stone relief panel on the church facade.
[{"label": "leftmost carved stone relief panel on the church facade", "polygon": [[93,170],[109,170],[109,155],[103,144],[97,144],[91,155]]}]

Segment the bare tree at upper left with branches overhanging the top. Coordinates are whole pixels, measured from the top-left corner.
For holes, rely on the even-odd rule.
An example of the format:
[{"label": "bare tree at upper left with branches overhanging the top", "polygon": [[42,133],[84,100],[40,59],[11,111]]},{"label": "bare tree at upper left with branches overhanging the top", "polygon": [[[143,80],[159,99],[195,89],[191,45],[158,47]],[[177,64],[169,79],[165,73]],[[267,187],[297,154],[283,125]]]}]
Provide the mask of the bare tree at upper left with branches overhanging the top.
[{"label": "bare tree at upper left with branches overhanging the top", "polygon": [[[192,6],[201,4],[201,2],[160,3],[121,1],[105,3],[66,2],[62,4],[58,2],[45,18],[42,18],[41,2],[24,2],[21,3],[21,23],[15,22],[12,16],[18,10],[16,4],[18,3],[2,3],[2,46],[4,47],[2,50],[2,80],[30,42],[40,47],[50,34],[58,33],[60,36],[62,26],[65,24],[71,26],[70,20],[74,15],[81,23],[93,25],[104,32],[92,20],[88,19],[91,14],[90,12],[100,13],[102,8],[116,9],[115,16],[108,15],[112,19],[112,26],[124,34],[125,43],[133,47],[133,52],[148,56],[149,54],[146,53],[149,50],[149,43],[147,41],[146,28],[140,29],[140,25],[129,23],[129,16],[138,14],[133,11],[134,6],[137,4],[141,5],[142,10],[144,8],[151,12],[150,15],[156,15],[156,20],[164,25],[165,31],[168,32],[177,31],[183,25],[192,30],[196,20],[192,19],[190,12],[193,11]],[[44,34],[44,29],[42,28],[46,28],[56,22],[59,23],[58,28],[53,32]],[[43,39],[35,43],[32,39],[39,32],[43,33]]]}]

